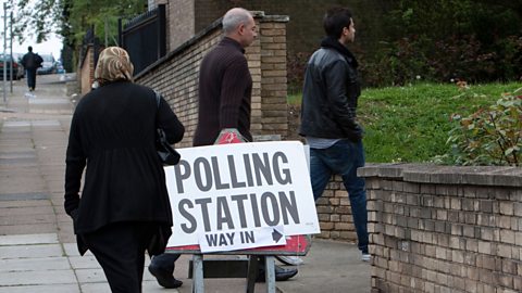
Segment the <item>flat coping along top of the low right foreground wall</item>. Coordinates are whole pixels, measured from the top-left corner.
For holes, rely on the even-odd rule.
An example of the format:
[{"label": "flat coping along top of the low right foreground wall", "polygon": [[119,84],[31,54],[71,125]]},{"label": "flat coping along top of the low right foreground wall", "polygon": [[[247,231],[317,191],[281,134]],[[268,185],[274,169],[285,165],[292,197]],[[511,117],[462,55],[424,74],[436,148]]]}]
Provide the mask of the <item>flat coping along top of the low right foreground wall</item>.
[{"label": "flat coping along top of the low right foreground wall", "polygon": [[501,166],[442,166],[435,164],[368,164],[361,177],[402,179],[406,182],[522,187],[522,168]]}]

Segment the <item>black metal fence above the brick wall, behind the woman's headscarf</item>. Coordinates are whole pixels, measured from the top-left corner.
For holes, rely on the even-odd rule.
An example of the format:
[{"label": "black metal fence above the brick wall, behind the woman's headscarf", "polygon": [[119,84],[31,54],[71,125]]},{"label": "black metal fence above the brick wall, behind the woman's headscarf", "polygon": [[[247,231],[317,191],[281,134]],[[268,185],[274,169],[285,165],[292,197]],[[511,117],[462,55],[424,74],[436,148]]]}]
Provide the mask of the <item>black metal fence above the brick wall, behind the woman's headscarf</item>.
[{"label": "black metal fence above the brick wall, behind the woman's headscarf", "polygon": [[138,15],[125,24],[119,20],[119,42],[130,55],[134,74],[165,55],[165,5]]}]

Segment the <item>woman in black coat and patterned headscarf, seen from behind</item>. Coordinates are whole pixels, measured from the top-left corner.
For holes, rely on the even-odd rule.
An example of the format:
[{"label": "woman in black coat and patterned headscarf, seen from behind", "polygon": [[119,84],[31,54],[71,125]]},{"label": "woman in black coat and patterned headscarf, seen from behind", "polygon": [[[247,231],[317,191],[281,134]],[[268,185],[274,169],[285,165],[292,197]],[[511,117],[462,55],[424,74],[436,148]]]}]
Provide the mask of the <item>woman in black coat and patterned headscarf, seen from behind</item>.
[{"label": "woman in black coat and patterned headscarf, seen from behind", "polygon": [[162,254],[172,233],[156,129],[162,128],[170,143],[185,132],[163,98],[158,104],[152,89],[133,82],[133,72],[125,50],[109,47],[100,53],[99,88],[76,106],[65,160],[64,207],[79,253],[90,250],[112,292],[122,293],[141,292],[145,252]]}]

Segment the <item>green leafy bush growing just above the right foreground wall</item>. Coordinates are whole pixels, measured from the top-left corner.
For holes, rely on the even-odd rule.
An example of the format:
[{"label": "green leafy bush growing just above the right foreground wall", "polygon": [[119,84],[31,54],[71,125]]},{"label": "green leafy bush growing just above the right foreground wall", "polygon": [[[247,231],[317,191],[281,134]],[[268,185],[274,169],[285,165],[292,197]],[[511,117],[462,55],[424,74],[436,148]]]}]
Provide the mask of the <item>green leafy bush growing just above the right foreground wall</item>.
[{"label": "green leafy bush growing just above the right foreground wall", "polygon": [[[464,89],[469,91],[469,89]],[[504,93],[493,105],[469,116],[452,115],[452,161],[462,165],[522,165],[522,91]]]}]

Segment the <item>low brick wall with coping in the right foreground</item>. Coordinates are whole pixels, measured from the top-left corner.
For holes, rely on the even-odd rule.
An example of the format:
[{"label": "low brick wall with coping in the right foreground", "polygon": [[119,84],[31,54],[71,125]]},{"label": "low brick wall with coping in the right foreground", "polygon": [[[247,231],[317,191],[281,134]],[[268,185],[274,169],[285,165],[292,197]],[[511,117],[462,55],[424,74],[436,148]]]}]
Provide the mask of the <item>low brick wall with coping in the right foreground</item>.
[{"label": "low brick wall with coping in the right foreground", "polygon": [[372,292],[522,292],[522,169],[376,165]]}]

